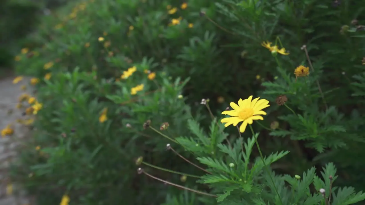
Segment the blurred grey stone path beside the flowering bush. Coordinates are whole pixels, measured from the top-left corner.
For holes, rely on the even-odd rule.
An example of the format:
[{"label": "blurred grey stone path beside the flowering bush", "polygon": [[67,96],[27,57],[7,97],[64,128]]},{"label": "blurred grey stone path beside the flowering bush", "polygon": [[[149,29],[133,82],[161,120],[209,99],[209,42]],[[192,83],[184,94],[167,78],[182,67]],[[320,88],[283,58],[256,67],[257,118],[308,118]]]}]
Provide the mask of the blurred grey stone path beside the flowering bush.
[{"label": "blurred grey stone path beside the flowering bush", "polygon": [[[0,205],[29,205],[30,201],[24,192],[16,190],[13,185],[13,193],[7,194],[7,185],[10,184],[8,178],[9,162],[16,156],[15,148],[25,136],[29,134],[29,129],[25,125],[16,123],[22,117],[22,109],[17,109],[19,96],[23,93],[32,94],[29,85],[30,78],[24,78],[18,84],[13,84],[14,77],[0,78],[0,130],[8,124],[12,124],[14,135],[0,138]],[[23,91],[21,86],[27,89]]]}]

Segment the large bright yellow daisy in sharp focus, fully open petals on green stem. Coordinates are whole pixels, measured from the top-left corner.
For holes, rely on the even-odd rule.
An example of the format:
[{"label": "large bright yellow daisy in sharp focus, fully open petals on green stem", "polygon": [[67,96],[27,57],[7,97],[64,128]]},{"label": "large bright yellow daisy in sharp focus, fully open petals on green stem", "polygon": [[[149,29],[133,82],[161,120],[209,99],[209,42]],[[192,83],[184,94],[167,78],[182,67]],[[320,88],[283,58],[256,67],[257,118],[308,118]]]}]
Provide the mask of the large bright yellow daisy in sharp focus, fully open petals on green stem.
[{"label": "large bright yellow daisy in sharp focus, fully open petals on green stem", "polygon": [[266,115],[266,112],[262,109],[269,107],[269,101],[265,99],[259,100],[260,97],[252,100],[252,96],[242,100],[238,100],[238,105],[234,102],[230,103],[233,110],[223,111],[222,115],[229,115],[231,117],[226,117],[220,120],[224,124],[224,127],[229,125],[237,126],[238,123],[242,122],[239,127],[240,132],[245,132],[247,124],[252,124],[253,120],[264,120],[261,115]]}]

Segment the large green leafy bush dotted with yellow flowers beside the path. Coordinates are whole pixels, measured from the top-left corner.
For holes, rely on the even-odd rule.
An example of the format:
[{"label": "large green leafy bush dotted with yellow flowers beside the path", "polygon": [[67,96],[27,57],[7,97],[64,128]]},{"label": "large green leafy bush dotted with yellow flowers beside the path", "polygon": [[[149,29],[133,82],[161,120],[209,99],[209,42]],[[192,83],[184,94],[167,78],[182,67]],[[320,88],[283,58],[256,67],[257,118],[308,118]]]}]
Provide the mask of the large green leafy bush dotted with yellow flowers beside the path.
[{"label": "large green leafy bush dotted with yellow flowers beside the path", "polygon": [[[88,205],[364,200],[349,187],[365,189],[364,26],[353,21],[364,8],[329,0],[70,3],[43,19],[32,39],[41,46],[16,57],[18,71],[41,82],[31,104],[36,130],[14,177],[40,204],[64,194]],[[271,106],[252,114],[255,103],[237,100],[250,95]],[[230,105],[239,113],[223,113],[241,117],[233,125],[250,124],[239,135],[217,122],[224,101],[238,101]],[[266,112],[252,127],[243,120]]]}]

